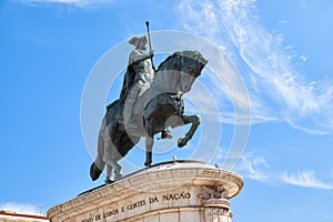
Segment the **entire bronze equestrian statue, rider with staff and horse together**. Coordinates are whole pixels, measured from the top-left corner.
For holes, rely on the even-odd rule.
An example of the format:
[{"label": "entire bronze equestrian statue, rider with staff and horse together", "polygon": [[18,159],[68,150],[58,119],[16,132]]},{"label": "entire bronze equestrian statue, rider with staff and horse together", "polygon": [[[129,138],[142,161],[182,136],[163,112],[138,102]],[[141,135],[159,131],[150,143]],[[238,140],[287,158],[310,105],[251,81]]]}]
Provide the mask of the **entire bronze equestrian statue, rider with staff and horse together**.
[{"label": "entire bronze equestrian statue, rider with staff and horse together", "polygon": [[118,161],[141,138],[145,138],[144,165],[151,167],[155,134],[161,132],[162,139],[171,138],[169,127],[191,124],[185,135],[178,140],[178,147],[182,148],[192,139],[200,124],[198,115],[184,114],[182,95],[191,90],[208,60],[198,51],[184,50],[169,56],[155,70],[150,41],[150,52],[145,52],[145,36],[133,37],[129,43],[135,49],[129,57],[120,98],[108,105],[102,119],[98,157],[90,167],[91,179],[97,180],[107,165],[107,183],[121,178]]}]

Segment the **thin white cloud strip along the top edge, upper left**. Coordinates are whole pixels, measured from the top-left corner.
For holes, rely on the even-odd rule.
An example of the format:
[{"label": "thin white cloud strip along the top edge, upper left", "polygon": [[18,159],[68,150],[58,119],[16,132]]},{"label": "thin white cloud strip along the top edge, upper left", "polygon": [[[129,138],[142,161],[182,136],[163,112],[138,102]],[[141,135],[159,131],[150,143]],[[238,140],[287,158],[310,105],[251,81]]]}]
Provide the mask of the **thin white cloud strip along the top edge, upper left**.
[{"label": "thin white cloud strip along the top edge, upper left", "polygon": [[113,0],[18,0],[21,3],[40,6],[48,3],[60,3],[67,6],[73,6],[78,8],[84,8],[90,6],[102,6],[113,2]]}]

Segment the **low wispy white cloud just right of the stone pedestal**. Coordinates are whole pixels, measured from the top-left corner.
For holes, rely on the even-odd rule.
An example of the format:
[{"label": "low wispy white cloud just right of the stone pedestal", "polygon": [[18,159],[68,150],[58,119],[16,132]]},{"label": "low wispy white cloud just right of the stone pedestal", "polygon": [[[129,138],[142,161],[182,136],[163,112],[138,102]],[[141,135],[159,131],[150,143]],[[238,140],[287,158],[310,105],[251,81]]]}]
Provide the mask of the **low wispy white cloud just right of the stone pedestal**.
[{"label": "low wispy white cloud just right of the stone pedestal", "polygon": [[311,189],[333,190],[333,184],[322,182],[315,176],[315,171],[273,171],[265,158],[255,154],[243,155],[236,171],[245,178],[268,184],[290,184]]}]

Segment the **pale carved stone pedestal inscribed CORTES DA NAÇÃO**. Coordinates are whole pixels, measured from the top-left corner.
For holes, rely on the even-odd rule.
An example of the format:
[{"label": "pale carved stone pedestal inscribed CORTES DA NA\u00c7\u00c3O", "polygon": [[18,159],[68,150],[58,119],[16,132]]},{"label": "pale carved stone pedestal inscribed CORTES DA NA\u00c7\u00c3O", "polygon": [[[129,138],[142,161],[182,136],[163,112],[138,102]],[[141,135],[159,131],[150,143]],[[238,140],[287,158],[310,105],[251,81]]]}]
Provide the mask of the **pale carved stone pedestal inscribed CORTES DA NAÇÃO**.
[{"label": "pale carved stone pedestal inscribed CORTES DA NA\u00c7\u00c3O", "polygon": [[52,222],[230,222],[243,186],[233,172],[196,161],[143,169],[48,211]]}]

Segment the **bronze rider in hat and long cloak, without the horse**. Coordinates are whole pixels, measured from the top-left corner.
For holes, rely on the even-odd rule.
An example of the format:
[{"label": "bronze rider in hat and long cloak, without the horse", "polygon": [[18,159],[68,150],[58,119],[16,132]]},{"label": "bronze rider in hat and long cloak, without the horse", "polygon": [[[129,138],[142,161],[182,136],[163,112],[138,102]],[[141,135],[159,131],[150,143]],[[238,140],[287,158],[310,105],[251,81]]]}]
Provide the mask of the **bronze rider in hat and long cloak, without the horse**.
[{"label": "bronze rider in hat and long cloak, without the horse", "polygon": [[[130,112],[127,118],[130,118],[129,128],[135,128],[133,119],[135,118],[135,109],[138,99],[150,87],[154,79],[154,67],[152,64],[153,51],[145,53],[147,38],[133,37],[129,40],[130,44],[133,44],[135,49],[130,53],[128,71],[124,77],[123,87],[120,93],[120,98],[125,99],[127,107],[130,108]],[[172,138],[168,129],[162,131],[162,139]]]}]

